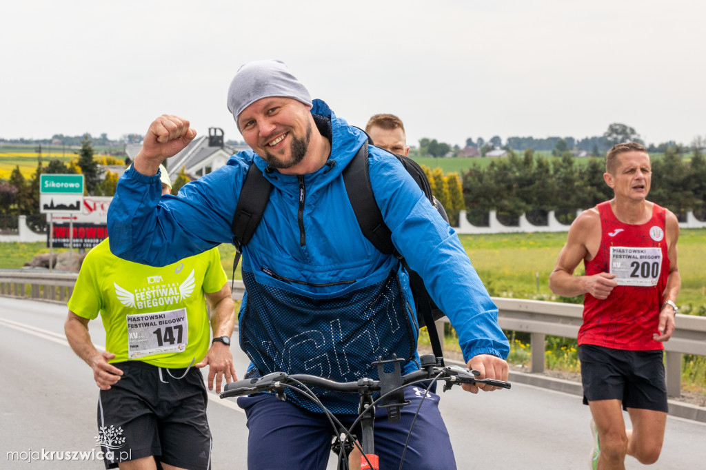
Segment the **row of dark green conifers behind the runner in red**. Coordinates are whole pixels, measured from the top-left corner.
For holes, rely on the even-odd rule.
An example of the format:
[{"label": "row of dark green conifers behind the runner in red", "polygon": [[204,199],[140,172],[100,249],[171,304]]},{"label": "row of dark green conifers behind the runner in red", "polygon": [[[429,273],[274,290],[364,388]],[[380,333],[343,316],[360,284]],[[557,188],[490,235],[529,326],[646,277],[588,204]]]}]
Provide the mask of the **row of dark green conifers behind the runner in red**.
[{"label": "row of dark green conifers behind the runner in red", "polygon": [[[462,188],[469,221],[487,224],[487,211],[496,210],[498,220],[513,225],[523,213],[530,222],[546,223],[546,212],[554,210],[562,222],[570,222],[577,209],[589,209],[613,198],[606,185],[604,158],[578,164],[570,152],[547,158],[527,149],[510,150],[505,159],[486,168],[474,164],[463,176]],[[669,208],[680,220],[693,211],[706,215],[706,159],[695,149],[689,162],[674,147],[662,158],[652,159],[649,200]],[[534,217],[534,220],[533,220]]]}]

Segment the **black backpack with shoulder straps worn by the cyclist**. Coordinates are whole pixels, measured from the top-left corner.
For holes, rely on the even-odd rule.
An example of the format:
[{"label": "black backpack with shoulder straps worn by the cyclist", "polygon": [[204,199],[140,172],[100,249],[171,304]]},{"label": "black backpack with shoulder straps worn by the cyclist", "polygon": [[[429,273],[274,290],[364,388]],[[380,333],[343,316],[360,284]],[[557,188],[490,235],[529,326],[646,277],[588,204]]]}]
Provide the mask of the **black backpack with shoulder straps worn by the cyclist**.
[{"label": "black backpack with shoulder straps worn by the cyclist", "polygon": [[[431,205],[436,207],[441,217],[448,222],[446,211],[443,205],[431,194],[429,180],[426,178],[424,170],[419,167],[419,164],[403,155],[395,155],[392,153],[389,155],[390,158],[396,157],[400,163],[402,163],[402,166],[405,167],[407,172],[412,176],[412,179],[414,179],[419,188],[421,188],[421,191],[424,191],[424,195],[429,199]],[[343,170],[342,176],[346,186],[346,192],[348,193],[348,199],[366,239],[373,243],[373,246],[382,253],[394,254],[409,273],[409,284],[412,288],[414,304],[417,306],[417,322],[419,323],[419,327],[426,325],[433,354],[443,365],[443,352],[441,350],[441,342],[439,341],[434,320],[443,317],[444,313],[436,306],[433,300],[431,300],[431,296],[429,296],[429,292],[426,291],[421,277],[417,272],[409,269],[407,261],[400,253],[397,253],[393,245],[391,238],[392,232],[383,221],[383,215],[375,200],[373,188],[370,183],[368,171],[368,142],[360,147],[351,162]],[[262,219],[263,212],[265,212],[265,207],[270,199],[270,191],[272,191],[272,184],[265,179],[260,169],[258,169],[255,164],[252,164],[245,177],[233,217],[233,244],[237,250],[233,260],[234,273],[242,253],[242,247],[250,241]]]}]

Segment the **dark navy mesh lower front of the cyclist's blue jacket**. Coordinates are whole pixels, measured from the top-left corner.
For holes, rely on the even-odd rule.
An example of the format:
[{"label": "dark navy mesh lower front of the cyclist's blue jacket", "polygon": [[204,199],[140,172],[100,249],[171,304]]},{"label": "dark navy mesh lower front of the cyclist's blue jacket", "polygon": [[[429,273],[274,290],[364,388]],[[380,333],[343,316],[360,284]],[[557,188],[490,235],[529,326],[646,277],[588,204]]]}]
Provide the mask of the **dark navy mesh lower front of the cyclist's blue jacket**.
[{"label": "dark navy mesh lower front of the cyclist's blue jacket", "polygon": [[[417,330],[396,272],[381,282],[336,296],[303,296],[256,281],[243,272],[241,347],[253,361],[246,378],[275,371],[349,382],[378,378],[379,356],[412,361]],[[334,413],[357,413],[357,394],[313,389]],[[311,411],[318,405],[288,391],[287,400]]]}]

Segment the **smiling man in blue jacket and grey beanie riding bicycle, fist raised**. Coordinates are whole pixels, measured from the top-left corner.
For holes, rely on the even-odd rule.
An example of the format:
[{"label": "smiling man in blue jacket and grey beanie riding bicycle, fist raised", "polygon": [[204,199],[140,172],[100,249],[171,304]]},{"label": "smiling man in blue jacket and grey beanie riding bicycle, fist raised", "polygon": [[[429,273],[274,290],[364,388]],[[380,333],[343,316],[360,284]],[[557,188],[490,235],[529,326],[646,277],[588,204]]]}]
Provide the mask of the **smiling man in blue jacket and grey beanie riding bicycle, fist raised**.
[{"label": "smiling man in blue jacket and grey beanie riding bicycle, fist raised", "polygon": [[[112,251],[164,265],[232,241],[237,200],[254,165],[273,190],[262,221],[242,247],[246,296],[239,313],[240,344],[252,361],[246,377],[283,370],[337,381],[377,378],[371,363],[393,354],[405,358],[404,373],[419,368],[407,271],[397,256],[381,253],[366,239],[342,180],[366,134],[324,102],[312,101],[280,61],[242,66],[230,86],[228,107],[252,150],[187,184],[175,198],[158,197],[157,169],[196,131],[177,116],[152,122],[111,204]],[[479,370],[480,378],[506,380],[503,358],[509,347],[497,308],[457,235],[397,159],[373,146],[369,154],[373,194],[395,248],[455,327],[469,367]],[[387,423],[384,410],[376,415],[383,468],[400,463],[419,395],[413,387],[405,390],[413,406],[402,409],[399,423]],[[432,395],[422,402],[405,466],[453,469],[438,397]],[[332,392],[321,401],[342,421],[357,414],[357,397]],[[239,405],[248,418],[249,468],[325,468],[331,431],[318,406],[296,394],[287,402],[256,394],[240,398]],[[261,456],[273,453],[277,458],[265,464]]]}]

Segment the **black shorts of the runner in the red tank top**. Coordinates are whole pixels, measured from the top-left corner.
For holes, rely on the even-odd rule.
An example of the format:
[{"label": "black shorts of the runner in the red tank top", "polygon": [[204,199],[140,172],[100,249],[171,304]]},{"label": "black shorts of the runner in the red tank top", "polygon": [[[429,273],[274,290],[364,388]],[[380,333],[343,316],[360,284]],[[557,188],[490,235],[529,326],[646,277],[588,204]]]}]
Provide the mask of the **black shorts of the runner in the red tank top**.
[{"label": "black shorts of the runner in the red tank top", "polygon": [[618,399],[623,409],[667,412],[663,351],[624,351],[593,344],[578,348],[583,402]]}]

